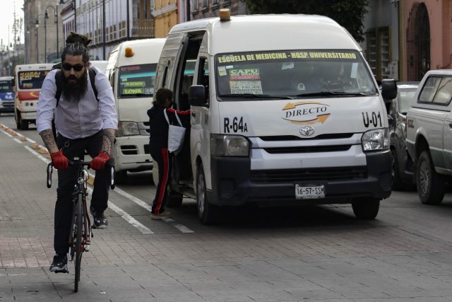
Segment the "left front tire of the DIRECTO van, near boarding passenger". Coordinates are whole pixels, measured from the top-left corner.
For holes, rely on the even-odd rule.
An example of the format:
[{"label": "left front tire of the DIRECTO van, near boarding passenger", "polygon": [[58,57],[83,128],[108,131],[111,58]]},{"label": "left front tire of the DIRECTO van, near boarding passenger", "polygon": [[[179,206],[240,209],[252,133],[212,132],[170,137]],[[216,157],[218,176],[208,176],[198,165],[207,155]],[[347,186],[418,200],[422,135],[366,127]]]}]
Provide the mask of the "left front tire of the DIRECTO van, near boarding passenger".
[{"label": "left front tire of the DIRECTO van, near boarding passenger", "polygon": [[198,165],[196,171],[196,206],[198,218],[201,224],[215,224],[218,220],[218,207],[210,204],[206,192],[206,176],[204,175],[203,164]]}]

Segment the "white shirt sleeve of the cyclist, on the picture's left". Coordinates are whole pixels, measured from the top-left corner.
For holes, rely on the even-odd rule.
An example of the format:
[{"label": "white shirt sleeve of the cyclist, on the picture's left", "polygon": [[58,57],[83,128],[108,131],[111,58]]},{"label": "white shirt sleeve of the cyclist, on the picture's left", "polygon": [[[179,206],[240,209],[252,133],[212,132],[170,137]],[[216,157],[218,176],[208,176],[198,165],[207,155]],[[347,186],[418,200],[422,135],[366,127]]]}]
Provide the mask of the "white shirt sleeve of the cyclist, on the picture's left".
[{"label": "white shirt sleeve of the cyclist, on the picture's left", "polygon": [[55,98],[55,93],[57,93],[55,73],[56,71],[50,71],[42,83],[36,109],[36,127],[38,133],[52,129],[54,110],[57,106],[57,98]]}]

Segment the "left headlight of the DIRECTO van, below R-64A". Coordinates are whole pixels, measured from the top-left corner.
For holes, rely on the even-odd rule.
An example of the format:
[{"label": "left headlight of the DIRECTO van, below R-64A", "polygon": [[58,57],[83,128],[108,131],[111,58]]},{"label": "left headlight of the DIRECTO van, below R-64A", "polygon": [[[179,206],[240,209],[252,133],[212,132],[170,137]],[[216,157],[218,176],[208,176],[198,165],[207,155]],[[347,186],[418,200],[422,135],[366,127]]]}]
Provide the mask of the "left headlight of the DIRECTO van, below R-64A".
[{"label": "left headlight of the DIRECTO van, below R-64A", "polygon": [[240,135],[210,134],[212,156],[248,156],[249,141]]}]

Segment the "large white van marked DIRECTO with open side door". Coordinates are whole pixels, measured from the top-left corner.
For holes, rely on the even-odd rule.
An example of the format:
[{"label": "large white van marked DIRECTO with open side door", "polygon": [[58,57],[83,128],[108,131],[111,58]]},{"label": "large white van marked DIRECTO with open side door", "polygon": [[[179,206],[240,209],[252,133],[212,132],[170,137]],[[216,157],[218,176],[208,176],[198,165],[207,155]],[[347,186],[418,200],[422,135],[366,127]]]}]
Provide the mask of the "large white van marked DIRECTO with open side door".
[{"label": "large white van marked DIRECTO with open side door", "polygon": [[[194,74],[186,72],[194,66]],[[374,219],[391,194],[388,117],[362,50],[330,18],[225,16],[175,25],[155,90],[191,108],[167,205],[351,203]],[[385,99],[396,82],[383,81]]]}]

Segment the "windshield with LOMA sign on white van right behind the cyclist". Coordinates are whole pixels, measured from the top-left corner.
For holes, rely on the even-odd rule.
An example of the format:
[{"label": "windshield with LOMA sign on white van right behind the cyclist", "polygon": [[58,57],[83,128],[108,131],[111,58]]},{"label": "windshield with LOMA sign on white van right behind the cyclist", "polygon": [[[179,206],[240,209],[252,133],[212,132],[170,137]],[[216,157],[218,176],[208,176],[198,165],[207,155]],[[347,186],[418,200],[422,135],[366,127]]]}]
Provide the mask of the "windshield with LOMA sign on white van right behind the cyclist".
[{"label": "windshield with LOMA sign on white van right behind the cyclist", "polygon": [[149,98],[154,95],[157,64],[119,67],[118,98]]}]

